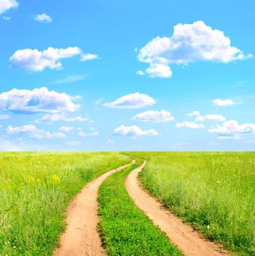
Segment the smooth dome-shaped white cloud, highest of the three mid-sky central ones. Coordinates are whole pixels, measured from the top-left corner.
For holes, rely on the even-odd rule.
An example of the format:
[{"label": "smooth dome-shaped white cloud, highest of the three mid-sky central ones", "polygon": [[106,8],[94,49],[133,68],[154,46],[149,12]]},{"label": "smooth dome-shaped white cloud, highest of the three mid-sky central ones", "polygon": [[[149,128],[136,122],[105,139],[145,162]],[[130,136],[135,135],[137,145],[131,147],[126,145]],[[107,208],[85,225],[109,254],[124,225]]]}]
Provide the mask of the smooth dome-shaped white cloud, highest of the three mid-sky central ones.
[{"label": "smooth dome-shaped white cloud, highest of the three mid-sky central ones", "polygon": [[136,92],[134,94],[127,94],[123,97],[116,99],[114,102],[104,103],[104,106],[108,108],[144,108],[155,104],[156,101],[147,94],[140,94]]}]

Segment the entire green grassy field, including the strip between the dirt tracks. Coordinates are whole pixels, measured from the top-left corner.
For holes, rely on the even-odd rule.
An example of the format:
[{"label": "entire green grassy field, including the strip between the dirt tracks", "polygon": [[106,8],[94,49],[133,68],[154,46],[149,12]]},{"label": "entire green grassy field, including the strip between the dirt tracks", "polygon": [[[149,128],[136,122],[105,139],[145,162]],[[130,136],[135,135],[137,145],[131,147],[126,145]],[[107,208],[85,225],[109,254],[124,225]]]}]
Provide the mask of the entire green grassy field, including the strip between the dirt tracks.
[{"label": "entire green grassy field, including the strip between the dirt tracks", "polygon": [[[66,207],[91,179],[147,160],[140,180],[173,213],[238,255],[255,255],[255,153],[1,153],[0,255],[52,255]],[[179,255],[127,194],[129,167],[100,189],[109,255]],[[134,225],[135,223],[135,225]]]}]

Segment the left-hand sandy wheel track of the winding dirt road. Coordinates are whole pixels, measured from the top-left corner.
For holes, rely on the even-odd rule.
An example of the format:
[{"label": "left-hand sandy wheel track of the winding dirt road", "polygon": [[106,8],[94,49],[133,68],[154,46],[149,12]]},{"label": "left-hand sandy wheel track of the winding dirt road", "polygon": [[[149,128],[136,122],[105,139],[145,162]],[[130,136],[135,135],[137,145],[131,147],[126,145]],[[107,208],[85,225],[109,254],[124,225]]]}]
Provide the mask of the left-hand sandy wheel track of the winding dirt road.
[{"label": "left-hand sandy wheel track of the winding dirt road", "polygon": [[102,174],[94,181],[89,182],[75,197],[67,210],[66,231],[61,236],[61,245],[54,252],[54,256],[105,255],[96,230],[96,225],[99,222],[97,215],[99,187],[108,176],[124,167],[133,165],[134,162]]}]

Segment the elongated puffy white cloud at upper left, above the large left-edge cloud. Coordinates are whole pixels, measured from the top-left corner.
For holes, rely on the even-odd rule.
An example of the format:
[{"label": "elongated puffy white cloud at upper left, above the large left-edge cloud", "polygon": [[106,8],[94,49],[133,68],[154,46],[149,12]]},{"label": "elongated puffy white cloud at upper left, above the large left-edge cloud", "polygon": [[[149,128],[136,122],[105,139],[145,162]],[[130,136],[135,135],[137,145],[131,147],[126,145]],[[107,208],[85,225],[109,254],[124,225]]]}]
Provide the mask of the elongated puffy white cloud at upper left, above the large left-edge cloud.
[{"label": "elongated puffy white cloud at upper left, above the large left-edge cloud", "polygon": [[23,49],[17,50],[10,58],[9,63],[13,67],[39,72],[45,68],[61,69],[60,59],[71,58],[82,54],[82,50],[77,47],[69,48],[47,48],[47,50]]}]

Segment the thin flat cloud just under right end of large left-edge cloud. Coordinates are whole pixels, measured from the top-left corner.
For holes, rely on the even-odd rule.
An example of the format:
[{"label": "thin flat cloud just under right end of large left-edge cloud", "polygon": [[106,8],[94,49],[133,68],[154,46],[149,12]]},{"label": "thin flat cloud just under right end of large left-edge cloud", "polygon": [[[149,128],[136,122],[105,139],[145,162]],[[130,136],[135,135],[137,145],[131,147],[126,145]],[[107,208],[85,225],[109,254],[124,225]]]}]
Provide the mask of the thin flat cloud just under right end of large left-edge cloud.
[{"label": "thin flat cloud just under right end of large left-edge cloud", "polygon": [[93,123],[93,121],[88,118],[88,116],[66,116],[65,113],[56,113],[52,115],[45,115],[42,116],[40,120],[37,120],[36,122],[38,123],[39,121],[66,121],[66,122],[75,122],[75,121],[86,121],[89,123]]}]

